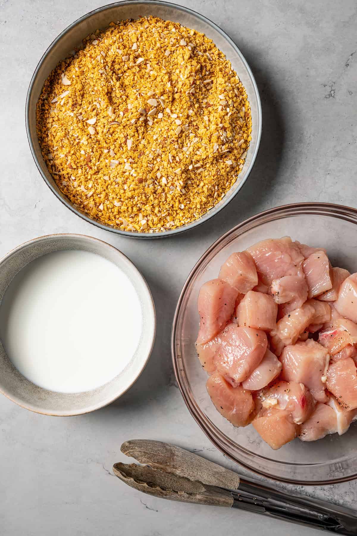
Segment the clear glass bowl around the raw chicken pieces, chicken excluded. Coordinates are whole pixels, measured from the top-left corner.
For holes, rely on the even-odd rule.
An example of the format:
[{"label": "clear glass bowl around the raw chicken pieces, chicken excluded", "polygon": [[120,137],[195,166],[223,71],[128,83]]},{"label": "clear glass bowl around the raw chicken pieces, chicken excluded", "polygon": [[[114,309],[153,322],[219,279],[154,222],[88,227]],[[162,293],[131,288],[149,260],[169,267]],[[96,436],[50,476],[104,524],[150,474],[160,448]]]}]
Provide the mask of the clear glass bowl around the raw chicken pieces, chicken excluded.
[{"label": "clear glass bowl around the raw chicken pieces, chicken excluded", "polygon": [[253,426],[234,428],[219,414],[206,391],[207,375],[195,352],[201,285],[218,275],[234,251],[266,238],[289,235],[328,250],[332,265],[357,271],[357,210],[327,203],[300,203],[271,209],[237,225],[218,239],[194,266],[181,292],[172,326],[174,372],[185,403],[210,441],[232,460],[274,480],[327,484],[357,476],[357,426],[303,443],[296,439],[272,450]]}]

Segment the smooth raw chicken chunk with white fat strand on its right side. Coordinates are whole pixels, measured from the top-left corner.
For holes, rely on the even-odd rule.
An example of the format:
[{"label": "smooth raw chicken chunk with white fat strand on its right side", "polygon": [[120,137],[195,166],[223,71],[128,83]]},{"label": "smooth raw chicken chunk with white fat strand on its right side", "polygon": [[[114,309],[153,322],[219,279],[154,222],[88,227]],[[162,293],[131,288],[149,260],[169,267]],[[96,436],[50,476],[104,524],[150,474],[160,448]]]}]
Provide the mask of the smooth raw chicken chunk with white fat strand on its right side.
[{"label": "smooth raw chicken chunk with white fat strand on its right side", "polygon": [[323,346],[312,339],[285,346],[280,361],[283,365],[282,379],[303,383],[317,402],[328,400],[325,383],[330,356]]}]

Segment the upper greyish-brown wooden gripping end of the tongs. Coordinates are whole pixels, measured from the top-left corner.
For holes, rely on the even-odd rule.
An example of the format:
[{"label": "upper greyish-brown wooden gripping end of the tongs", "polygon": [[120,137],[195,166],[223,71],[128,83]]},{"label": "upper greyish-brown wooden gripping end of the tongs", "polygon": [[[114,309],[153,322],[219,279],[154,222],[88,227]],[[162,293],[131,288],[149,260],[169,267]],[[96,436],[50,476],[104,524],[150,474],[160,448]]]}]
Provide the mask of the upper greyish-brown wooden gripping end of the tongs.
[{"label": "upper greyish-brown wooden gripping end of the tongs", "polygon": [[198,480],[204,485],[229,489],[239,487],[237,473],[170,443],[151,440],[130,440],[125,441],[120,450],[126,456],[135,458],[141,464],[146,464],[160,471],[185,477],[189,480]]}]

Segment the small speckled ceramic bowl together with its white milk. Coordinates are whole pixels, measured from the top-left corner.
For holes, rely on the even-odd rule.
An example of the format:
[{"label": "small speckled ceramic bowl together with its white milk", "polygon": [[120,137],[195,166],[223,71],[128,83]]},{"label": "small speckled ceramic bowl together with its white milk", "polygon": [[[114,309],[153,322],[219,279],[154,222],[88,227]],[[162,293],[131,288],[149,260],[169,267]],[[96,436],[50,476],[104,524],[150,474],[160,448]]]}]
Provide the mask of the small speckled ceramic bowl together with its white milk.
[{"label": "small speckled ceramic bowl together with its white milk", "polygon": [[155,330],[145,279],[106,242],[42,236],[0,260],[0,392],[28,410],[110,404],[145,368]]}]

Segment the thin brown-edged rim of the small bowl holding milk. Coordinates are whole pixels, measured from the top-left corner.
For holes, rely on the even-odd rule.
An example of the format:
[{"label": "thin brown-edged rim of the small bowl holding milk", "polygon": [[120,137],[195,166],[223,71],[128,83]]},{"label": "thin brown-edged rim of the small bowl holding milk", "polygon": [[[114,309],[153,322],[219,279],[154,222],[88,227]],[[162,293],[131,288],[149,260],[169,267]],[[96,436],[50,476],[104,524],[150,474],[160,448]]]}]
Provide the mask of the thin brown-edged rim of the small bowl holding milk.
[{"label": "thin brown-edged rim of the small bowl holding milk", "polygon": [[[130,385],[128,385],[119,394],[117,394],[115,397],[113,397],[113,398],[111,398],[109,400],[103,400],[102,402],[96,404],[95,406],[93,406],[93,407],[90,406],[90,408],[86,408],[85,410],[80,411],[79,413],[77,413],[77,412],[68,412],[68,411],[67,412],[56,411],[56,413],[51,413],[51,412],[48,412],[48,411],[40,411],[40,410],[35,409],[34,407],[29,407],[29,405],[21,403],[21,401],[19,399],[16,399],[16,398],[12,397],[9,393],[5,392],[0,386],[0,394],[3,394],[6,398],[11,400],[12,402],[17,404],[18,406],[24,408],[25,410],[32,411],[33,413],[39,413],[41,415],[49,415],[49,416],[55,416],[55,417],[69,417],[69,416],[76,416],[76,415],[85,415],[86,413],[92,413],[93,411],[100,410],[102,407],[105,407],[105,406],[108,406],[109,404],[112,404],[112,402],[114,402],[115,400],[117,400],[118,398],[123,396],[123,394],[125,394],[134,385],[134,383],[139,379],[139,377],[141,376],[141,374],[143,373],[144,369],[147,366],[147,363],[148,363],[148,361],[150,359],[151,353],[153,352],[153,347],[154,347],[155,338],[156,338],[156,309],[155,309],[155,302],[154,302],[154,299],[153,299],[153,295],[151,294],[151,291],[150,291],[150,287],[147,284],[147,281],[146,281],[145,277],[143,277],[142,273],[135,266],[135,264],[132,262],[132,260],[130,258],[128,258],[122,251],[120,251],[118,248],[116,248],[112,244],[109,244],[108,242],[105,242],[104,240],[100,240],[100,239],[98,239],[98,238],[96,238],[94,236],[83,235],[83,234],[80,234],[80,233],[54,233],[54,234],[49,234],[49,235],[36,236],[35,238],[33,238],[31,240],[27,240],[26,242],[22,242],[21,244],[17,245],[15,248],[12,248],[2,258],[0,258],[0,269],[1,269],[1,266],[3,265],[3,263],[7,261],[7,259],[9,259],[13,254],[17,253],[18,251],[21,251],[21,249],[24,249],[25,247],[27,247],[27,246],[29,246],[29,245],[31,245],[33,243],[41,242],[43,240],[56,239],[56,237],[64,237],[64,238],[69,238],[69,239],[71,239],[71,238],[86,239],[89,242],[100,243],[100,244],[104,245],[105,248],[114,250],[115,254],[116,255],[119,254],[119,257],[123,258],[125,260],[125,262],[127,262],[131,266],[131,269],[134,272],[136,272],[136,274],[142,280],[142,282],[144,284],[144,287],[145,287],[145,289],[147,291],[147,296],[149,297],[151,312],[153,314],[153,330],[150,333],[150,339],[148,338],[148,341],[150,341],[150,346],[149,346],[149,351],[148,351],[148,355],[147,355],[146,359],[143,361],[141,367],[138,369],[138,371],[137,371],[137,373],[135,375],[135,378],[130,383]],[[25,265],[25,266],[27,266],[27,265]],[[28,380],[28,381],[31,382],[30,380]],[[31,382],[31,383],[33,383],[33,382]]]}]

